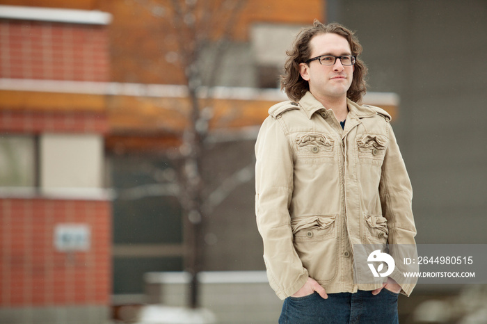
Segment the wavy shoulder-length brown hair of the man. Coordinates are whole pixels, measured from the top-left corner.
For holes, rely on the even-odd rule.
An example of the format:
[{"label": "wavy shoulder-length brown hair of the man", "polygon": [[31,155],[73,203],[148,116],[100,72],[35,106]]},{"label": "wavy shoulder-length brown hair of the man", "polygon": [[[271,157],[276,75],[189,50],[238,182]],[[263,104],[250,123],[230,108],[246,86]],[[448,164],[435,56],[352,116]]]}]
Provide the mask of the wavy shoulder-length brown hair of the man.
[{"label": "wavy shoulder-length brown hair of the man", "polygon": [[317,19],[314,19],[312,27],[303,29],[301,33],[298,34],[292,49],[286,51],[287,59],[284,65],[285,73],[280,77],[281,89],[285,90],[287,97],[294,102],[298,102],[303,95],[310,90],[308,81],[303,79],[299,73],[299,64],[305,63],[306,60],[310,59],[311,39],[315,35],[324,33],[335,33],[346,38],[347,42],[349,42],[352,55],[357,57],[355,70],[353,71],[352,84],[346,92],[346,97],[353,102],[360,103],[362,96],[367,92],[367,82],[365,81],[367,67],[365,66],[365,63],[358,58],[362,53],[362,45],[358,42],[353,31],[350,31],[335,22],[324,25]]}]

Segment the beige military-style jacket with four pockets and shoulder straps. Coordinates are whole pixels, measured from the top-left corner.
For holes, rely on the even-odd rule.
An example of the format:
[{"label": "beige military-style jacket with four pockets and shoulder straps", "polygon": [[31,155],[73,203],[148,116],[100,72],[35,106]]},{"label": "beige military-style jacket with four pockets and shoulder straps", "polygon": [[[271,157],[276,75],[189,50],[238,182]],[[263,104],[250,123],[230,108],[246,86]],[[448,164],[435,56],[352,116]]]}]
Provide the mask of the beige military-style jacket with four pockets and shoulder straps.
[{"label": "beige military-style jacket with four pockets and shoulder straps", "polygon": [[[350,100],[348,107],[342,130],[308,92],[298,104],[272,106],[260,129],[257,227],[281,299],[308,276],[327,293],[376,289],[354,284],[353,244],[415,244],[413,193],[390,115]],[[414,284],[401,287],[409,295]]]}]

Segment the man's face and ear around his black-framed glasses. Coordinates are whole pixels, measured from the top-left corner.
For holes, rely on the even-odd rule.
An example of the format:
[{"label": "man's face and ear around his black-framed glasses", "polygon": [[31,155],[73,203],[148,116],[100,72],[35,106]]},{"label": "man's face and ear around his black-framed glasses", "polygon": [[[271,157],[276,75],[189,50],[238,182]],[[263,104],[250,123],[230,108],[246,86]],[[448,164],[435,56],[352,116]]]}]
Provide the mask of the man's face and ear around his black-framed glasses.
[{"label": "man's face and ear around his black-framed glasses", "polygon": [[[346,38],[335,33],[315,35],[311,41],[311,57],[322,55],[344,56],[351,55],[349,42]],[[335,65],[321,65],[319,60],[300,64],[301,77],[308,81],[310,92],[317,98],[346,97],[352,77],[353,65],[342,65],[339,59]]]}]

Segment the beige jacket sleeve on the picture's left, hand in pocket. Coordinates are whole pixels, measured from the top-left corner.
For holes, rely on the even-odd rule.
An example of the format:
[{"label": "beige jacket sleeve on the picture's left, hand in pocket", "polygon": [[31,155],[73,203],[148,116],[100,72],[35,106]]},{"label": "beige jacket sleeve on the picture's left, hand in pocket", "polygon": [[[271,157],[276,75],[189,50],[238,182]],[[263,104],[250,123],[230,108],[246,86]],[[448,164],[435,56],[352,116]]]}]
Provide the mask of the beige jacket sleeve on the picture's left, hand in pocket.
[{"label": "beige jacket sleeve on the picture's left, hand in pocket", "polygon": [[293,192],[292,147],[279,118],[267,118],[255,144],[255,213],[264,243],[264,262],[272,289],[280,299],[296,293],[308,270],[294,250],[289,206]]}]

